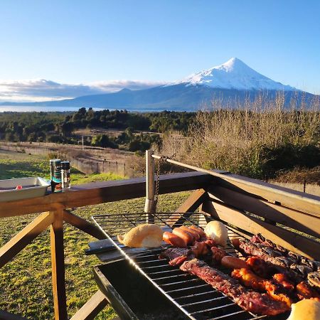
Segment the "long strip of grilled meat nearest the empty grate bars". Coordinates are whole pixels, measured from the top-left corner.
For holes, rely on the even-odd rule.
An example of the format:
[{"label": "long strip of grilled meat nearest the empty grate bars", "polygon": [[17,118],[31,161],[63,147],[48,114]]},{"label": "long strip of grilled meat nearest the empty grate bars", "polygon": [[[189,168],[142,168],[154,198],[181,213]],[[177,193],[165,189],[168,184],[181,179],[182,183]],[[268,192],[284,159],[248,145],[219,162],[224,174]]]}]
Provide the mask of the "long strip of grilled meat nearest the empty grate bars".
[{"label": "long strip of grilled meat nearest the empty grate bars", "polygon": [[236,304],[246,311],[274,316],[289,310],[284,302],[276,301],[267,294],[245,289],[235,279],[213,267],[209,267],[201,260],[185,261],[180,269],[203,279],[213,288],[232,298]]}]

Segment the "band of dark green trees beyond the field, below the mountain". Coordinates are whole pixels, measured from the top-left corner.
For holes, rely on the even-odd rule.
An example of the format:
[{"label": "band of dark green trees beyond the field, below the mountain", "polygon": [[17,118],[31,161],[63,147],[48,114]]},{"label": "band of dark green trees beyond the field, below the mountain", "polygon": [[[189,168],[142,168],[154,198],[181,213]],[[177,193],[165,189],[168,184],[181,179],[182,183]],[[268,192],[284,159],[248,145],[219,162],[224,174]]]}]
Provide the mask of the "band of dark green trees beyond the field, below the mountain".
[{"label": "band of dark green trees beyond the field, below the mountain", "polygon": [[85,144],[128,151],[144,151],[151,144],[161,145],[161,134],[178,131],[186,134],[195,112],[128,112],[92,110],[77,112],[3,112],[0,139],[7,142],[54,142],[78,144],[78,129],[117,129],[117,136],[103,133],[85,137]]}]

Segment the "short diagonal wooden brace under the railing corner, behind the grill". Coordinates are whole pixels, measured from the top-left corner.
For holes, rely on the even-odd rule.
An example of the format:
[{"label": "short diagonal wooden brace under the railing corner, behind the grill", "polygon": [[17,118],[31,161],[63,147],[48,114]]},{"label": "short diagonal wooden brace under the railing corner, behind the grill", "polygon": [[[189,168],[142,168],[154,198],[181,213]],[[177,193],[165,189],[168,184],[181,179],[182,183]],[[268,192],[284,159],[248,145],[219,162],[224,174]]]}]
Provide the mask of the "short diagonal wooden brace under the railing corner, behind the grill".
[{"label": "short diagonal wooden brace under the railing corner, behind the grill", "polygon": [[[204,189],[198,189],[196,191],[193,191],[190,196],[184,201],[181,206],[176,209],[176,213],[192,213],[196,209],[199,208],[201,203],[203,203],[204,199],[208,196],[208,193]],[[184,216],[184,215],[183,215]],[[174,227],[175,225],[179,225],[183,223],[184,219],[179,214],[172,214],[170,217],[166,220],[166,223],[168,225],[171,225],[171,227]]]}]

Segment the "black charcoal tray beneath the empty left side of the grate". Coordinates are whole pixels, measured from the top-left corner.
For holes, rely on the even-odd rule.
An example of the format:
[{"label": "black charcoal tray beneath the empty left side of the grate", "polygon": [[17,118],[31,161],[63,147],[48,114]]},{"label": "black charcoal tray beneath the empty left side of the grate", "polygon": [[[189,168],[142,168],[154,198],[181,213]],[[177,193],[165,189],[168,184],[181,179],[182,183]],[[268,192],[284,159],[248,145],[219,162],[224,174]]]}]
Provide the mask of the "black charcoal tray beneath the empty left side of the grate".
[{"label": "black charcoal tray beneath the empty left side of the grate", "polygon": [[107,262],[93,271],[99,289],[121,319],[188,319],[127,260]]}]

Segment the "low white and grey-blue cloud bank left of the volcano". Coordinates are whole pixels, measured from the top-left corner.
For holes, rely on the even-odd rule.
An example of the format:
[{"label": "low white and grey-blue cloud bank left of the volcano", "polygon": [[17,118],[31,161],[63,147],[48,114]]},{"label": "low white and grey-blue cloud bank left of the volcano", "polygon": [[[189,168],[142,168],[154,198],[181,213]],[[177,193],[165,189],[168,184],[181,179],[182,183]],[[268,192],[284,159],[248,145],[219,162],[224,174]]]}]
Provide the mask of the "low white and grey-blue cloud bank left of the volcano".
[{"label": "low white and grey-blue cloud bank left of the volcano", "polygon": [[167,82],[141,80],[110,80],[87,84],[67,84],[50,80],[0,80],[0,101],[60,100],[82,95],[117,92],[124,88],[141,90],[165,85]]}]

